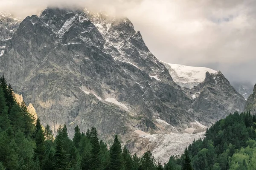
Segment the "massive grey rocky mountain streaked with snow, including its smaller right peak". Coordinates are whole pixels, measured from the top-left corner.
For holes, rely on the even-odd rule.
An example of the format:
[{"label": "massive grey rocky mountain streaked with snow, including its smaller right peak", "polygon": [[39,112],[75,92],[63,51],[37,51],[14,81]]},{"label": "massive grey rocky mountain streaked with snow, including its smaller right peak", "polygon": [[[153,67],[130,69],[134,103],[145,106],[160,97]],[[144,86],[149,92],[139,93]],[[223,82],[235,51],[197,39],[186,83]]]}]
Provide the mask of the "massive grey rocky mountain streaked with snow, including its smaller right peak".
[{"label": "massive grey rocky mountain streaked with snow, including its smaller right peak", "polygon": [[[187,73],[196,83],[186,88],[191,82],[179,85],[182,75],[175,68],[173,76],[172,68],[151,54],[127,18],[60,8],[26,17],[0,57],[0,72],[44,126],[56,133],[66,124],[70,136],[76,125],[81,131],[96,126],[108,143],[117,133],[132,153],[163,148],[138,132],[173,141],[165,136],[204,132],[244,108],[245,99],[220,71],[198,68],[200,76],[208,71],[199,80],[197,71]],[[191,136],[200,134],[179,138],[180,145]]]}]

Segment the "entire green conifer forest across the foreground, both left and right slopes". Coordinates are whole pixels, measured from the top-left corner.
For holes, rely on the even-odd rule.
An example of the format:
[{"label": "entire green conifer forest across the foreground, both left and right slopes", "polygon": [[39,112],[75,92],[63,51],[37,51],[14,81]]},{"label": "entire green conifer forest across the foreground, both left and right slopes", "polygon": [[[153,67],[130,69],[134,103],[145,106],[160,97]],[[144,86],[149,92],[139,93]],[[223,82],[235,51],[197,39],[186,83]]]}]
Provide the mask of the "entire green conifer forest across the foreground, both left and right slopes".
[{"label": "entire green conifer forest across the foreground, both left and right slopes", "polygon": [[26,104],[17,104],[12,86],[0,78],[0,170],[255,170],[256,116],[235,112],[207,129],[182,156],[171,156],[164,166],[151,152],[142,157],[121,147],[117,135],[108,147],[96,127],[73,139],[66,125],[54,136],[34,120]]}]

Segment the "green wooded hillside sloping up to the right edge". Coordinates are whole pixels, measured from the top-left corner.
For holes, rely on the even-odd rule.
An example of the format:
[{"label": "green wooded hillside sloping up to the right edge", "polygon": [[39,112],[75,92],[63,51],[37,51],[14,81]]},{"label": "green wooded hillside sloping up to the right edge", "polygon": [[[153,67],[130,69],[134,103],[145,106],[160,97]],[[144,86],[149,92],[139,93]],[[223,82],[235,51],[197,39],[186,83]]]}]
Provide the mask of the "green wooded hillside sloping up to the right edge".
[{"label": "green wooded hillside sloping up to the right edge", "polygon": [[[256,116],[235,112],[207,129],[178,158],[172,156],[165,170],[253,170],[256,169]],[[245,148],[245,149],[244,149]]]}]

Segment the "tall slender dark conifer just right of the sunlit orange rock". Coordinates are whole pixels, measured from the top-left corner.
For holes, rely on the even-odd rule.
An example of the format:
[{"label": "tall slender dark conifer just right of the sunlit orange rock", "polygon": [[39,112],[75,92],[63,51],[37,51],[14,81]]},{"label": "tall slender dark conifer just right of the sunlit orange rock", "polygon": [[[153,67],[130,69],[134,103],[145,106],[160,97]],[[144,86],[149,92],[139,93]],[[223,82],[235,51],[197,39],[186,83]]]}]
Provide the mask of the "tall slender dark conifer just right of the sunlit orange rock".
[{"label": "tall slender dark conifer just right of the sunlit orange rock", "polygon": [[40,162],[40,166],[43,163],[44,153],[45,153],[45,143],[44,143],[44,130],[42,129],[42,125],[40,119],[38,118],[35,125],[35,159],[38,159]]}]

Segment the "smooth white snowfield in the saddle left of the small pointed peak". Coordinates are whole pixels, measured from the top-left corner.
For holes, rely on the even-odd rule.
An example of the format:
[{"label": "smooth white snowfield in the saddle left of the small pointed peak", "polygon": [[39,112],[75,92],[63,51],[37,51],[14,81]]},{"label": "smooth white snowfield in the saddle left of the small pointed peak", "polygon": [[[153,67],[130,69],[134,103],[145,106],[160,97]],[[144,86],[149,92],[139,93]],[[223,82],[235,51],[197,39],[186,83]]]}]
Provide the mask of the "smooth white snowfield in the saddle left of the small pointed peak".
[{"label": "smooth white snowfield in the saddle left of the small pointed peak", "polygon": [[203,82],[207,71],[209,73],[217,73],[217,71],[206,67],[191,67],[166,62],[163,62],[163,64],[168,69],[172,79],[183,88],[193,88]]}]

